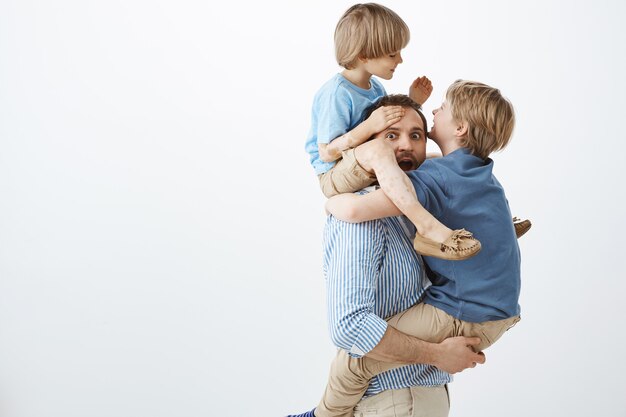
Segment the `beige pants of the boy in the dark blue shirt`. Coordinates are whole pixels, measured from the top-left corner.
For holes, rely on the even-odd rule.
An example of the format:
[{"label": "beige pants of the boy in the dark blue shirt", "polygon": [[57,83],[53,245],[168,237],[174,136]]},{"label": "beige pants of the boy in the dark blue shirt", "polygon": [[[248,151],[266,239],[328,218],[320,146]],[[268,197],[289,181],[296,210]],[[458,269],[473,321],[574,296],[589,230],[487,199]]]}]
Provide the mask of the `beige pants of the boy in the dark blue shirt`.
[{"label": "beige pants of the boy in the dark blue shirt", "polygon": [[[480,352],[495,343],[519,317],[505,320],[469,323],[455,319],[431,305],[419,303],[389,319],[389,325],[418,339],[439,343],[448,337],[480,337],[475,349]],[[406,364],[353,358],[340,349],[330,369],[326,391],[315,410],[317,417],[351,417],[354,406],[367,390],[370,379],[381,372]]]}]

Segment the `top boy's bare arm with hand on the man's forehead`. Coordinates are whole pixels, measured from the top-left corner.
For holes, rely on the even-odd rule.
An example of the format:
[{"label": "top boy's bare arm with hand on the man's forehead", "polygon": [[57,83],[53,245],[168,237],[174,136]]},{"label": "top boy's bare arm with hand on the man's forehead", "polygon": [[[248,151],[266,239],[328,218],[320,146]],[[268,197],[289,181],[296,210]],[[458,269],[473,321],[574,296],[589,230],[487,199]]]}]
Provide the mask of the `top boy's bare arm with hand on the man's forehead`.
[{"label": "top boy's bare arm with hand on the man's forehead", "polygon": [[401,106],[384,106],[374,110],[370,117],[354,129],[333,139],[330,143],[318,144],[320,158],[324,162],[333,162],[341,158],[346,149],[356,148],[378,132],[400,121],[405,110]]}]

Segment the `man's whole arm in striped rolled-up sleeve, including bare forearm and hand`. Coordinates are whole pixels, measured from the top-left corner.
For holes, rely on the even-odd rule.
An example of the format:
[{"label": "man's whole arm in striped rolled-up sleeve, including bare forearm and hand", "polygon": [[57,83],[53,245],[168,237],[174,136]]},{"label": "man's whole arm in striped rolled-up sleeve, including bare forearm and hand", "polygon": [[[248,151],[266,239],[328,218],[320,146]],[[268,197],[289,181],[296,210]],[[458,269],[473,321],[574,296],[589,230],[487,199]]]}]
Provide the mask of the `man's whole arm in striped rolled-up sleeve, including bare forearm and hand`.
[{"label": "man's whole arm in striped rolled-up sleeve, including bare forearm and hand", "polygon": [[385,233],[381,222],[349,224],[329,217],[324,236],[331,339],[352,356],[383,362],[423,363],[455,373],[484,363],[468,346],[479,338],[454,337],[429,343],[389,326],[374,312],[377,271]]}]

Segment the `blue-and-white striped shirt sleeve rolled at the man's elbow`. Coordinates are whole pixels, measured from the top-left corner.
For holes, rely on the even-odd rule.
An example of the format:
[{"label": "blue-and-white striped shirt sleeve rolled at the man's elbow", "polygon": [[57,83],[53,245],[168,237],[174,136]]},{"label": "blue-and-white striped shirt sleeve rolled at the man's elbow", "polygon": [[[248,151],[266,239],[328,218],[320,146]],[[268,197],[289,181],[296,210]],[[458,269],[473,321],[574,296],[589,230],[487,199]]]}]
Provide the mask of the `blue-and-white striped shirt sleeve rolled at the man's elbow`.
[{"label": "blue-and-white striped shirt sleeve rolled at the man's elbow", "polygon": [[375,314],[384,228],[380,220],[351,224],[329,216],[324,247],[331,339],[351,356],[361,357],[387,330],[387,322]]}]

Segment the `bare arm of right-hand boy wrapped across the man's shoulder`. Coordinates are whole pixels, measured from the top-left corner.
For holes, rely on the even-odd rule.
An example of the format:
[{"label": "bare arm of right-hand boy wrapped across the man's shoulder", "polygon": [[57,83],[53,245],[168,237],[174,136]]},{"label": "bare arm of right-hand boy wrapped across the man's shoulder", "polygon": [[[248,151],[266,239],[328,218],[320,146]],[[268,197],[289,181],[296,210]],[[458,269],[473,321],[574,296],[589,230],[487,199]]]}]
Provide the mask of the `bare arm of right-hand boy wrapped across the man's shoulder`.
[{"label": "bare arm of right-hand boy wrapped across the man's shoulder", "polygon": [[360,223],[402,214],[380,189],[363,195],[346,193],[331,197],[326,201],[326,211],[348,223]]}]

